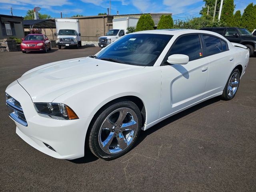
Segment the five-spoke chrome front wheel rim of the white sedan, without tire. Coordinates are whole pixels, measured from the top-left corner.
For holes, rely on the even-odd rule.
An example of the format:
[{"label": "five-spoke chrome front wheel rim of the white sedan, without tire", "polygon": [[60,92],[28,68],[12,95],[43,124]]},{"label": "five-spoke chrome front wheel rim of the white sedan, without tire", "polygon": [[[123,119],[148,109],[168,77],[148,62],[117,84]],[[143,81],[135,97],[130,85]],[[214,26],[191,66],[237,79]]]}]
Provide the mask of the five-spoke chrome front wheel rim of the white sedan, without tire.
[{"label": "five-spoke chrome front wheel rim of the white sedan, without tire", "polygon": [[102,123],[98,140],[100,148],[108,154],[125,150],[138,131],[138,117],[130,108],[119,108],[110,113]]}]

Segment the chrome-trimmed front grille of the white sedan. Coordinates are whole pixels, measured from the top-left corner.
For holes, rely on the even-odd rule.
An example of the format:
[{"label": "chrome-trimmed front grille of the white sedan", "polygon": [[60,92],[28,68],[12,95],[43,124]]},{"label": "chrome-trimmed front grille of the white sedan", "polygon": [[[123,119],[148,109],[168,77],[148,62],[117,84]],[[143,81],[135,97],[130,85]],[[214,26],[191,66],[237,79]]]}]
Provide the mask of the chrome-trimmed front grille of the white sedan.
[{"label": "chrome-trimmed front grille of the white sedan", "polygon": [[9,116],[23,126],[28,126],[20,102],[6,93],[6,106]]}]

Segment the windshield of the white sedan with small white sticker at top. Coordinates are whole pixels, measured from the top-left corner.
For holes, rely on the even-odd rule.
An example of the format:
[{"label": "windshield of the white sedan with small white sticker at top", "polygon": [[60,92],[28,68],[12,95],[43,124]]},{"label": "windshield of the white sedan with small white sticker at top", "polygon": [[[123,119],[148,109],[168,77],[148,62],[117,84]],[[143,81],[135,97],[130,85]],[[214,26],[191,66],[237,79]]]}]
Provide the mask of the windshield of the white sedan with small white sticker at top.
[{"label": "windshield of the white sedan with small white sticker at top", "polygon": [[130,65],[153,66],[172,35],[129,34],[99,52],[97,59]]}]

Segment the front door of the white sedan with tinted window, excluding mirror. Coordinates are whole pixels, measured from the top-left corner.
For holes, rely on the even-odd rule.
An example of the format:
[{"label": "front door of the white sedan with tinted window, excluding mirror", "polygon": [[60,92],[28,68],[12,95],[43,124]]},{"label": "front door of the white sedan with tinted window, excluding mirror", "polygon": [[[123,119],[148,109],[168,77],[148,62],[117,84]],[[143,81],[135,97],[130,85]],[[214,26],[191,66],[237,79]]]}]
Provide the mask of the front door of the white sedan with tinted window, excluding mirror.
[{"label": "front door of the white sedan with tinted window, excluding mirror", "polygon": [[[168,64],[166,60],[172,54],[188,55],[188,64]],[[160,66],[162,70],[160,118],[202,100],[208,78],[208,65],[209,60],[203,55],[198,34],[177,38]]]}]

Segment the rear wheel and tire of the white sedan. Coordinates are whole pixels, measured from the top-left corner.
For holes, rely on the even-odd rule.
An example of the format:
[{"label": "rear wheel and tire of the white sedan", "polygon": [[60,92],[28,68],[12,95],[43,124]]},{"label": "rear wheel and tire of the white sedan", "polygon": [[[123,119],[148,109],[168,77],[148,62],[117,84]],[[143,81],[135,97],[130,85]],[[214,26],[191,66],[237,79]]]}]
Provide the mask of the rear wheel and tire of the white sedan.
[{"label": "rear wheel and tire of the white sedan", "polygon": [[231,100],[236,95],[236,92],[238,90],[238,86],[240,83],[240,72],[236,68],[232,71],[228,78],[228,82],[226,83],[226,86],[222,93],[222,100]]}]

